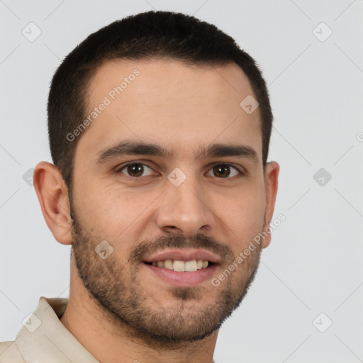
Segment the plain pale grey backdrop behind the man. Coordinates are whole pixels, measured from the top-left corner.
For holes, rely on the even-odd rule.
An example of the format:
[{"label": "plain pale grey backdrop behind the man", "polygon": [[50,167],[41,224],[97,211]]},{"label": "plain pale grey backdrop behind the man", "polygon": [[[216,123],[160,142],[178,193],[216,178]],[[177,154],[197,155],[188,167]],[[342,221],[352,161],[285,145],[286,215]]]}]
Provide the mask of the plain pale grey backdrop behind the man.
[{"label": "plain pale grey backdrop behind the man", "polygon": [[152,9],[216,24],[255,57],[271,94],[274,216],[286,220],[220,329],[216,362],[362,362],[362,0],[0,1],[0,341],[40,296],[69,294],[70,247],[52,237],[29,177],[51,161],[52,74],[90,33]]}]

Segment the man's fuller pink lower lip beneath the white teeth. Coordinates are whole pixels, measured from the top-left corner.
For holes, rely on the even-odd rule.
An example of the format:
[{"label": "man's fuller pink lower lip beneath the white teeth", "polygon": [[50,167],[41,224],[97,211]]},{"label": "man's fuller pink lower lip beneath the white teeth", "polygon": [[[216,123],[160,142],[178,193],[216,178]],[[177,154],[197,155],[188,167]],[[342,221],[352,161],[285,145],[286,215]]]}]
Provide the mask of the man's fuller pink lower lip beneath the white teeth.
[{"label": "man's fuller pink lower lip beneath the white teeth", "polygon": [[172,269],[164,269],[164,267],[152,266],[152,264],[144,263],[143,265],[156,274],[157,277],[160,277],[160,279],[179,287],[196,286],[211,279],[218,267],[217,264],[212,264],[206,269],[197,269],[193,272],[177,272]]}]

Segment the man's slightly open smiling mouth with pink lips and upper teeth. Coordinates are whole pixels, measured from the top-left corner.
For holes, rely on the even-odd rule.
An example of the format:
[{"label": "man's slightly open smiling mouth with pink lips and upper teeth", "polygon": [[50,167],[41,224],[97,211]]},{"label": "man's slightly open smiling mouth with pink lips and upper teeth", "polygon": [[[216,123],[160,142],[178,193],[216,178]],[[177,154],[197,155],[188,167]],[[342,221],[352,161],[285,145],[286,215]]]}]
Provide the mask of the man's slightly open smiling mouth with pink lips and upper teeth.
[{"label": "man's slightly open smiling mouth with pink lips and upper teeth", "polygon": [[143,261],[156,277],[173,286],[188,287],[211,279],[219,257],[201,250],[164,251]]}]

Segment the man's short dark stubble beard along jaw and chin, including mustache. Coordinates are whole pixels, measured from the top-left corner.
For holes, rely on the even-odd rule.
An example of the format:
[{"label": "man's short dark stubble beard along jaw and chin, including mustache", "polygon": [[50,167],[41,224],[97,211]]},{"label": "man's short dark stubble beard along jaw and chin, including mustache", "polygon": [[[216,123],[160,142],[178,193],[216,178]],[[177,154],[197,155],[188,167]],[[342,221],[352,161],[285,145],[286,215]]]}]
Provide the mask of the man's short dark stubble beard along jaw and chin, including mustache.
[{"label": "man's short dark stubble beard along jaw and chin, including mustache", "polygon": [[[159,301],[151,296],[155,291],[138,280],[140,264],[128,264],[130,268],[126,268],[114,252],[107,259],[101,259],[95,248],[103,238],[82,228],[74,208],[71,211],[72,260],[89,296],[111,323],[114,333],[123,332],[150,347],[172,349],[208,337],[240,306],[255,279],[259,246],[218,287],[212,284],[208,287],[170,286],[169,301]],[[130,254],[130,262],[150,246],[152,250],[155,247],[205,247],[223,255],[225,268],[235,261],[230,247],[206,235],[196,235],[193,239],[167,235],[152,242],[141,242]]]}]

